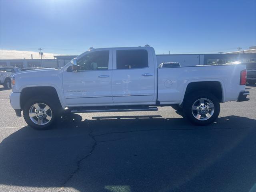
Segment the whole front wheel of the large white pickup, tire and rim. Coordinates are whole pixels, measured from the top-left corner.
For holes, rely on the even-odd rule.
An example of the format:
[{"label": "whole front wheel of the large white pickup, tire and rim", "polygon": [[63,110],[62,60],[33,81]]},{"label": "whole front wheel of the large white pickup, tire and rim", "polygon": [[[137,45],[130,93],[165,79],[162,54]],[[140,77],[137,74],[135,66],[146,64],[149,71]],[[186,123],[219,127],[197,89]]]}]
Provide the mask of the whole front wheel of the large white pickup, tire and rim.
[{"label": "whole front wheel of the large white pickup, tire and rim", "polygon": [[23,116],[26,123],[38,130],[52,128],[57,115],[57,108],[54,101],[44,96],[29,99],[24,105]]}]

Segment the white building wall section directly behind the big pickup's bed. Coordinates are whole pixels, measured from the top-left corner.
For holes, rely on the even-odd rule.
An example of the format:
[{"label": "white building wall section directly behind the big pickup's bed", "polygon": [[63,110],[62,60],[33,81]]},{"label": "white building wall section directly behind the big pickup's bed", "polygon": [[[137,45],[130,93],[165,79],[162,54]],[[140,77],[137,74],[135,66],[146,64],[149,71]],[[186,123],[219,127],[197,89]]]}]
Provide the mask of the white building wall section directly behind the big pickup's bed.
[{"label": "white building wall section directly behind the big pickup's bed", "polygon": [[204,64],[204,55],[156,55],[157,64],[179,62],[180,66],[196,66]]}]

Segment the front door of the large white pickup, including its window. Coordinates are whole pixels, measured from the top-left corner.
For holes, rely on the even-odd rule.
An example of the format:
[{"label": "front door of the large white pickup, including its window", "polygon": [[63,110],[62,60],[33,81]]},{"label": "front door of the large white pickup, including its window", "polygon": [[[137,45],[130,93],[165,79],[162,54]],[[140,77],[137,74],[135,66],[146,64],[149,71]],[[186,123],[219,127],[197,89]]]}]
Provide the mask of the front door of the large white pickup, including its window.
[{"label": "front door of the large white pickup, including its window", "polygon": [[67,106],[90,106],[113,103],[112,50],[90,50],[77,58],[78,72],[63,74]]}]

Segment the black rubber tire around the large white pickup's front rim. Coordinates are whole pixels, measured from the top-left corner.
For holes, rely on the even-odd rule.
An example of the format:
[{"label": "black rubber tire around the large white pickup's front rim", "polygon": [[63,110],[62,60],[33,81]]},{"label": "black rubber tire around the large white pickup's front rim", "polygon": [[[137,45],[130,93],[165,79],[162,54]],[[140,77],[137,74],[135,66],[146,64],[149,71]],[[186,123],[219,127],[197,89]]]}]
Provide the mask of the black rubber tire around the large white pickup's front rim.
[{"label": "black rubber tire around the large white pickup's front rim", "polygon": [[[30,108],[36,103],[43,103],[50,107],[51,120],[49,120],[47,124],[38,125],[30,119],[30,116],[29,116]],[[59,112],[59,110],[58,110],[58,106],[56,105],[56,101],[50,100],[50,98],[48,96],[35,96],[33,98],[30,98],[28,100],[28,102],[26,102],[24,104],[23,117],[24,117],[26,123],[30,127],[34,128],[36,130],[47,130],[47,129],[53,128],[54,120],[57,118],[58,112]],[[36,117],[35,117],[35,119],[36,119]]]}]

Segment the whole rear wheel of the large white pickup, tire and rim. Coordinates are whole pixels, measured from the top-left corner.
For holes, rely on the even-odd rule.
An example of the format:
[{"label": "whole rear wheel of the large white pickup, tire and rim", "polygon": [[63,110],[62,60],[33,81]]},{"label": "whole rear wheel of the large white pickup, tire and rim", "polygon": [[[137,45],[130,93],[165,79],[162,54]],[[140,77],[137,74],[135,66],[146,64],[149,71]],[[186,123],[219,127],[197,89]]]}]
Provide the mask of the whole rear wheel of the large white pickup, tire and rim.
[{"label": "whole rear wheel of the large white pickup, tire and rim", "polygon": [[194,92],[186,97],[183,111],[185,117],[196,125],[208,125],[218,117],[220,103],[210,92]]}]

